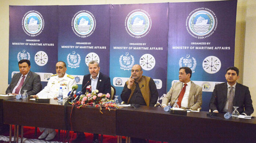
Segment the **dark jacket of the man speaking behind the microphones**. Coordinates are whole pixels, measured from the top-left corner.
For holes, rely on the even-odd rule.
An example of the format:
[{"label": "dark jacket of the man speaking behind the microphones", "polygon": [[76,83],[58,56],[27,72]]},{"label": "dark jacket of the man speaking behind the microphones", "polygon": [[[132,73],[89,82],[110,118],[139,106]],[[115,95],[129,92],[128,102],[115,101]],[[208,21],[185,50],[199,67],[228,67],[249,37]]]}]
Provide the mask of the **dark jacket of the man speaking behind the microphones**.
[{"label": "dark jacket of the man speaking behind the microphones", "polygon": [[[99,91],[98,93],[111,94],[110,78],[101,72],[99,72],[99,74],[100,75],[99,75],[97,86],[96,86],[96,89]],[[88,85],[91,85],[90,74],[83,76],[83,83],[82,83],[82,88],[84,88],[82,90],[83,94],[85,94],[85,91],[86,91],[85,86],[88,86]]]}]

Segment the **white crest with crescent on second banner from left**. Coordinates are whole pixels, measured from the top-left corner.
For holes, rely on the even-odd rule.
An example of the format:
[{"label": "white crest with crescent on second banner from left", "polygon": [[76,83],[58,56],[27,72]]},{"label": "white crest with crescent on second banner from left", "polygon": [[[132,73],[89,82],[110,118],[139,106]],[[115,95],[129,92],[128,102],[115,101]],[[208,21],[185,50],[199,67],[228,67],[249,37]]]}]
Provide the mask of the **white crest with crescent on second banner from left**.
[{"label": "white crest with crescent on second banner from left", "polygon": [[80,61],[81,57],[79,54],[75,54],[75,51],[73,51],[72,54],[68,54],[67,56],[68,67],[77,68],[79,67]]}]

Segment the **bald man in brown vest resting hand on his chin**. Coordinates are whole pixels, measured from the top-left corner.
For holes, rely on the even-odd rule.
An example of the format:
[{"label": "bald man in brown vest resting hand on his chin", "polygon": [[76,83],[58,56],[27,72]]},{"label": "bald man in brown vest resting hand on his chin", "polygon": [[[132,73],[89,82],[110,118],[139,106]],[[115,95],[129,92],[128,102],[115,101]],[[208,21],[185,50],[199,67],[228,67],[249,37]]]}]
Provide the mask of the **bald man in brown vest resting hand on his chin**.
[{"label": "bald man in brown vest resting hand on his chin", "polygon": [[128,104],[154,106],[158,99],[156,84],[151,77],[142,76],[142,74],[140,65],[132,67],[131,76],[122,90],[121,99]]}]

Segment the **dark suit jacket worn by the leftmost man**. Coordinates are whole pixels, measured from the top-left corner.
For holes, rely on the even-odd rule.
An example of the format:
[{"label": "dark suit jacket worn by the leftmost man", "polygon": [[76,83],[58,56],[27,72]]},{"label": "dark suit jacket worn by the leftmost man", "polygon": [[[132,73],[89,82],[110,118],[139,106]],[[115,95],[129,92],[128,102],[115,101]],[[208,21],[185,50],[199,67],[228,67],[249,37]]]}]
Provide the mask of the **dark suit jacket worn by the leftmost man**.
[{"label": "dark suit jacket worn by the leftmost man", "polygon": [[[17,85],[20,77],[21,73],[14,74],[13,78],[11,79],[11,84],[6,89],[6,94],[13,92],[13,89]],[[36,95],[39,91],[41,91],[41,88],[42,86],[40,76],[34,72],[29,71],[21,87],[21,94],[24,93],[23,90],[27,90],[28,96]]]}]

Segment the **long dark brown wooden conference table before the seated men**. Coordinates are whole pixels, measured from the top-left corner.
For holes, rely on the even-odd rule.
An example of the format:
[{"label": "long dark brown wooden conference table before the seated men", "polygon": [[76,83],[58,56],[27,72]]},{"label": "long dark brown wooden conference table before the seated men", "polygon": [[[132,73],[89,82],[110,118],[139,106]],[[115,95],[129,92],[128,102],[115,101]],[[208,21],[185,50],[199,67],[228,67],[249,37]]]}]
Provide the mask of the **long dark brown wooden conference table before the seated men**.
[{"label": "long dark brown wooden conference table before the seated men", "polygon": [[[50,99],[50,103],[11,99],[3,101],[4,124],[65,129],[64,118],[70,119],[72,106]],[[218,118],[208,112],[173,115],[161,107],[124,107],[102,110],[94,107],[73,108],[72,131],[104,135],[137,137],[164,142],[256,142],[256,118]],[[70,123],[69,123],[70,125]],[[69,130],[71,130],[69,128]]]}]

